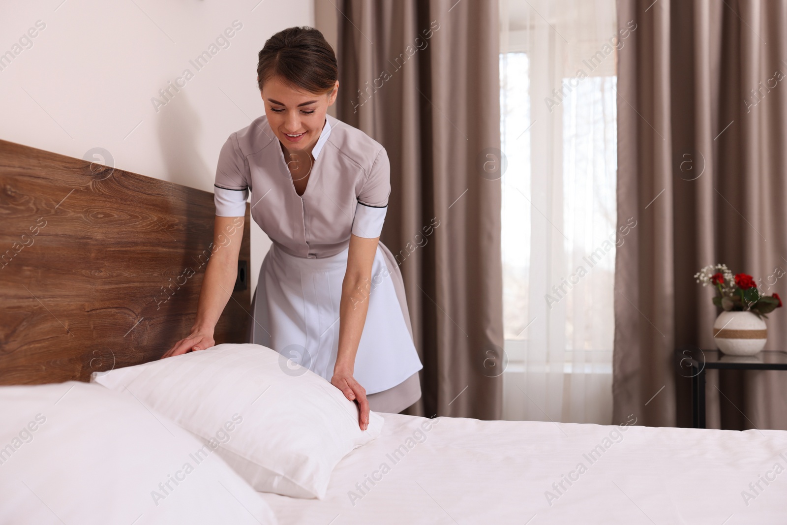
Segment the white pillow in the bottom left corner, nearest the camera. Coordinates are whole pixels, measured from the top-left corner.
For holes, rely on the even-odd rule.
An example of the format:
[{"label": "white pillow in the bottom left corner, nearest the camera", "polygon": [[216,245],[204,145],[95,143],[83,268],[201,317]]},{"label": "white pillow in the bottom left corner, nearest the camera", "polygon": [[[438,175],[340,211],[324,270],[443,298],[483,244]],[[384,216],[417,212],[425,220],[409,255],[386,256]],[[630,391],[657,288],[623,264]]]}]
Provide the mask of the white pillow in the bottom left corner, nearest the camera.
[{"label": "white pillow in the bottom left corner, nearest the camera", "polygon": [[277,523],[197,438],[102,386],[0,386],[0,421],[0,523]]}]

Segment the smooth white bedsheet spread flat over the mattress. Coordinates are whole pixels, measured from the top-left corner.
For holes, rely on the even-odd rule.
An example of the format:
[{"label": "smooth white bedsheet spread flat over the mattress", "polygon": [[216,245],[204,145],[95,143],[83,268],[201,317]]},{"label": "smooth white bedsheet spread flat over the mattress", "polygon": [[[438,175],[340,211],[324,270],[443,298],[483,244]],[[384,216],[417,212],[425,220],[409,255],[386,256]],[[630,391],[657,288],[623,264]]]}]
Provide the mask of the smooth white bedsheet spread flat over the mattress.
[{"label": "smooth white bedsheet spread flat over the mattress", "polygon": [[426,418],[382,416],[382,435],[338,464],[326,500],[260,494],[279,525],[787,523],[787,431],[442,417],[422,438]]}]

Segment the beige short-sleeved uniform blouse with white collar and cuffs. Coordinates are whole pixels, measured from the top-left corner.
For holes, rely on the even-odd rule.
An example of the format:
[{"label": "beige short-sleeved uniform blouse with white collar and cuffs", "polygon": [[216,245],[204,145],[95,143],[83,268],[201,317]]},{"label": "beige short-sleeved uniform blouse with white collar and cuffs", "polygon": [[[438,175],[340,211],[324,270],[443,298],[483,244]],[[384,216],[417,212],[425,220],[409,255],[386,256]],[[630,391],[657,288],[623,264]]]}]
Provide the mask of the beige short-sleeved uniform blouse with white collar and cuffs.
[{"label": "beige short-sleeved uniform blouse with white collar and cuffs", "polygon": [[216,169],[216,215],[243,216],[250,190],[253,220],[278,248],[297,257],[335,255],[350,233],[378,237],[390,194],[386,150],[363,131],[330,115],[325,119],[301,196],[267,117],[230,135]]}]

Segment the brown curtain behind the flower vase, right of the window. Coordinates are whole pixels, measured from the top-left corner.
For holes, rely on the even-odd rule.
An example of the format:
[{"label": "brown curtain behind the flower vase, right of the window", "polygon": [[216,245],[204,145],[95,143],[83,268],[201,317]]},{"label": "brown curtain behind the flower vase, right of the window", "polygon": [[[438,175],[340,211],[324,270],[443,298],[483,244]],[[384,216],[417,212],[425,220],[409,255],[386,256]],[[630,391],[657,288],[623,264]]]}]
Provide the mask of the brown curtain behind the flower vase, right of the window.
[{"label": "brown curtain behind the flower vase, right of the window", "polygon": [[[787,272],[787,1],[618,0],[614,422],[689,426],[676,346],[715,348],[707,264]],[[773,279],[771,279],[771,282]],[[787,277],[763,289],[787,292]],[[766,349],[785,349],[787,309]],[[709,428],[787,429],[785,372],[708,372]],[[655,396],[655,397],[653,397]]]}]

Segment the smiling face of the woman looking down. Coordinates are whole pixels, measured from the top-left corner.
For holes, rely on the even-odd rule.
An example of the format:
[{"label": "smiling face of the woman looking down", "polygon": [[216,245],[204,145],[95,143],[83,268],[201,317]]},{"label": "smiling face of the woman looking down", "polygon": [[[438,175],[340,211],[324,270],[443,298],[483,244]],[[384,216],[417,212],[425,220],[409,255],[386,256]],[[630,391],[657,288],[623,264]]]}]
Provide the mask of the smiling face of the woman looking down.
[{"label": "smiling face of the woman looking down", "polygon": [[291,87],[278,76],[265,81],[260,92],[265,115],[287,151],[312,151],[320,139],[328,106],[336,100],[338,85],[337,80],[333,91],[313,94]]}]

